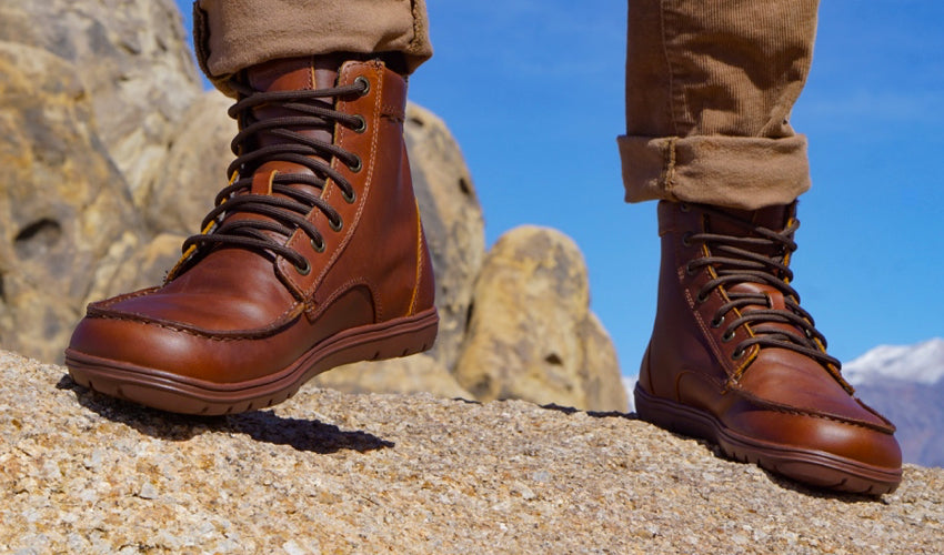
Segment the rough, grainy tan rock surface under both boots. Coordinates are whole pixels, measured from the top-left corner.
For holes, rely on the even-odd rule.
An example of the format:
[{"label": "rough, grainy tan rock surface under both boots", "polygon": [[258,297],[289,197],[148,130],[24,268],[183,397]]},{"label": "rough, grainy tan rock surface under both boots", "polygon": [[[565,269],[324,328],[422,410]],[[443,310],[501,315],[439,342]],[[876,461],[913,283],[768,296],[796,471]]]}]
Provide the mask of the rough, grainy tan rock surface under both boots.
[{"label": "rough, grainy tan rock surface under both boots", "polygon": [[878,500],[632,415],[304,389],[187,418],[0,353],[4,553],[940,553],[944,470]]}]

